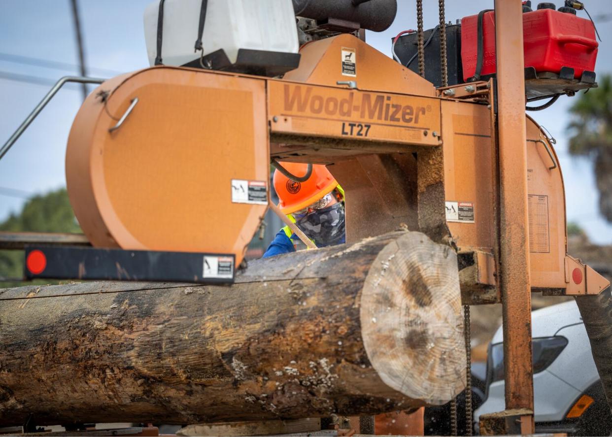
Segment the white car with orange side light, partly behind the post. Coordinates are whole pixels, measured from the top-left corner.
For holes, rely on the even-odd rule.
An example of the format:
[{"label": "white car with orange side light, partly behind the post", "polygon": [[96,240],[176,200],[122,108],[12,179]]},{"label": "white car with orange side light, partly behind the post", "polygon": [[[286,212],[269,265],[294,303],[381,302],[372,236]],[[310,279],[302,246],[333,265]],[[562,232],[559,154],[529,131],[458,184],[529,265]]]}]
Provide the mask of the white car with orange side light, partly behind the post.
[{"label": "white car with orange side light, partly behind the post", "polygon": [[[532,313],[534,416],[536,433],[610,435],[612,414],[606,402],[591,344],[575,301]],[[488,349],[485,402],[474,412],[504,410],[502,328]]]}]

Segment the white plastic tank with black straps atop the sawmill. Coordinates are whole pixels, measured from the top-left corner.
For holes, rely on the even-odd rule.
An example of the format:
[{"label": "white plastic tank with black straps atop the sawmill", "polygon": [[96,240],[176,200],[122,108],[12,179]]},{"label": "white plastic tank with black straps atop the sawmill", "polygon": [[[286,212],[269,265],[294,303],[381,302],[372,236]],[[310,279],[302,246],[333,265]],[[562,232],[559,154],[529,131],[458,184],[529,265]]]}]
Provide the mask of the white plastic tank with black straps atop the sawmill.
[{"label": "white plastic tank with black straps atop the sawmill", "polygon": [[[157,56],[159,2],[144,10],[144,38],[149,64]],[[163,5],[162,61],[185,65],[200,58],[198,39],[201,0],[165,0]],[[225,50],[236,62],[238,50],[297,53],[296,18],[292,0],[208,0],[202,36],[204,56]]]}]

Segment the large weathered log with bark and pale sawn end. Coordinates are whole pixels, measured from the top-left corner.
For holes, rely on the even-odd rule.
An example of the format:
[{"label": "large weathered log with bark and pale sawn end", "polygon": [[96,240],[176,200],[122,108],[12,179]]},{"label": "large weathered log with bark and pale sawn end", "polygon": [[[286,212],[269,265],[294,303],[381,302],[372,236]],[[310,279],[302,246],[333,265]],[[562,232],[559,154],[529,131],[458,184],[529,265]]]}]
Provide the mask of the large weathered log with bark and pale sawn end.
[{"label": "large weathered log with bark and pale sawn end", "polygon": [[457,256],[398,231],[231,286],[0,290],[0,425],[197,424],[441,405],[465,387]]}]

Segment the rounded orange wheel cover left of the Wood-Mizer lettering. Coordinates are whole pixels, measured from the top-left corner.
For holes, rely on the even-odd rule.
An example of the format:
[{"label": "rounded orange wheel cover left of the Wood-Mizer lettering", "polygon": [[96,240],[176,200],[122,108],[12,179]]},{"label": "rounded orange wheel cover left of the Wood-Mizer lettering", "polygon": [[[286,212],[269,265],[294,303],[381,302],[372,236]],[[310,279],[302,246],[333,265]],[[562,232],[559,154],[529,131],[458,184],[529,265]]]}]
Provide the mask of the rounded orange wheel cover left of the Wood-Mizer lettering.
[{"label": "rounded orange wheel cover left of the Wood-Mizer lettering", "polygon": [[265,107],[259,78],[162,67],[103,83],[66,154],[70,201],[92,244],[234,253],[239,264],[267,207]]}]

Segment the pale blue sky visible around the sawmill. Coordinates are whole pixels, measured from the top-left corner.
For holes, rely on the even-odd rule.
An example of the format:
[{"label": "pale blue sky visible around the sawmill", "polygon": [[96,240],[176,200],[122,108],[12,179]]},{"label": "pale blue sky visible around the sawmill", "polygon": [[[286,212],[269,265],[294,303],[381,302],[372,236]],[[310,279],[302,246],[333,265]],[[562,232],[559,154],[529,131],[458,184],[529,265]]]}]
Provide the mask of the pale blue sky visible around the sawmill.
[{"label": "pale blue sky visible around the sawmill", "polygon": [[[256,0],[253,0],[256,1]],[[89,75],[111,77],[148,66],[143,34],[143,11],[150,0],[80,0]],[[398,0],[394,24],[381,33],[368,32],[367,42],[390,54],[390,39],[398,32],[416,28],[414,0]],[[425,29],[438,22],[438,2],[425,0]],[[537,2],[534,1],[534,4]],[[561,0],[556,0],[561,6]],[[5,56],[17,54],[48,61],[77,63],[69,0],[2,0],[0,13],[0,141],[9,138],[51,84],[66,70],[10,62]],[[595,72],[612,72],[612,2],[586,0],[603,39]],[[493,7],[492,0],[446,1],[446,19],[454,21],[481,9]],[[584,16],[583,12],[579,12]],[[585,16],[586,17],[586,16]],[[22,81],[35,77],[42,84]],[[21,79],[21,80],[17,80]],[[532,113],[535,120],[558,140],[556,151],[565,180],[567,218],[579,223],[592,241],[612,244],[612,225],[599,215],[592,165],[567,154],[565,125],[567,108],[573,100],[562,97],[551,108]],[[21,136],[13,149],[0,160],[0,221],[17,212],[28,193],[43,193],[65,185],[64,154],[72,120],[81,104],[81,92],[69,86],[45,108]]]}]

